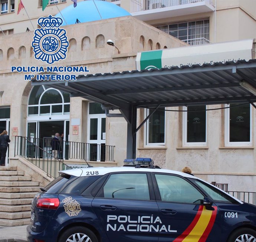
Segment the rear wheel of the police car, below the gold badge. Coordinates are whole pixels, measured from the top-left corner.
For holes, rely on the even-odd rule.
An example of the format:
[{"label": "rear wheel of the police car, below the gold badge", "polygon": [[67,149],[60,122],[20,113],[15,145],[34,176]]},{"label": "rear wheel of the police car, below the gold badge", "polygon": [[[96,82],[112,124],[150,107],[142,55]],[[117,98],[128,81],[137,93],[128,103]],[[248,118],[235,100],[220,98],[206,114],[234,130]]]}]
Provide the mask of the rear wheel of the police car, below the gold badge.
[{"label": "rear wheel of the police car, below the gold badge", "polygon": [[[89,240],[88,240],[89,238]],[[62,233],[58,242],[98,242],[96,235],[88,228],[77,226]]]}]

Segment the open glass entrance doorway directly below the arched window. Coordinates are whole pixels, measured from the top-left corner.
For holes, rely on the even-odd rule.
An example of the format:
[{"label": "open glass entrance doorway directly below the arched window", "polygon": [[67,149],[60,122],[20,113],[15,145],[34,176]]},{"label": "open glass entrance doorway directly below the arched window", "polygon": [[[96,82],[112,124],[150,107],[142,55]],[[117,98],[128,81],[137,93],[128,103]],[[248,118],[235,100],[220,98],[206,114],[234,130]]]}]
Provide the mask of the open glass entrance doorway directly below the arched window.
[{"label": "open glass entrance doorway directly below the arched window", "polygon": [[63,142],[60,145],[58,158],[68,159],[69,152],[69,120],[37,121],[27,123],[27,155],[29,157],[50,158],[52,154],[51,140],[56,133],[63,133]]}]

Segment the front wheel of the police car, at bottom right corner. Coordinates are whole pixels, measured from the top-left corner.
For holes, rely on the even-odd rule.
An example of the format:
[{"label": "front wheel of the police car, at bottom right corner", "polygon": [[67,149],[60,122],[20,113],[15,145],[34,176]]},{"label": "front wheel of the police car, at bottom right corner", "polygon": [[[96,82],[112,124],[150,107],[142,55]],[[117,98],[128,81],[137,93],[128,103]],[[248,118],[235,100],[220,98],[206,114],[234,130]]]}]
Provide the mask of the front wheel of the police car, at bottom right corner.
[{"label": "front wheel of the police car, at bottom right corner", "polygon": [[234,231],[227,242],[256,242],[256,232],[249,228],[240,228]]}]

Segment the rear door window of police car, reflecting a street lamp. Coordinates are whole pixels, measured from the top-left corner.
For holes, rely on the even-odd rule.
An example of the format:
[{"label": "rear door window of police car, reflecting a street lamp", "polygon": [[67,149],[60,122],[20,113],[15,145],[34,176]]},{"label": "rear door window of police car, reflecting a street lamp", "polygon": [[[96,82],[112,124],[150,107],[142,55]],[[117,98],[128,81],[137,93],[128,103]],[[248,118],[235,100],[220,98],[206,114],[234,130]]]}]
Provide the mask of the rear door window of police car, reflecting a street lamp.
[{"label": "rear door window of police car, reflecting a street lamp", "polygon": [[150,200],[147,174],[111,174],[97,197],[129,200]]}]

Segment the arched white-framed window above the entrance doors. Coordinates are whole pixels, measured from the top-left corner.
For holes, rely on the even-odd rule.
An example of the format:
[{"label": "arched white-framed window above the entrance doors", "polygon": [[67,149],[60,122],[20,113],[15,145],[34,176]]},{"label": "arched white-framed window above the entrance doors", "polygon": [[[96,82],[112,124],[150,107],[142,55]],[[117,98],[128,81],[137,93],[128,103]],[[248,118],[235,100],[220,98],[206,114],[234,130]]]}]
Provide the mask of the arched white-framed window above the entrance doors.
[{"label": "arched white-framed window above the entrance doors", "polygon": [[69,93],[47,87],[33,87],[29,95],[28,116],[69,114]]}]

